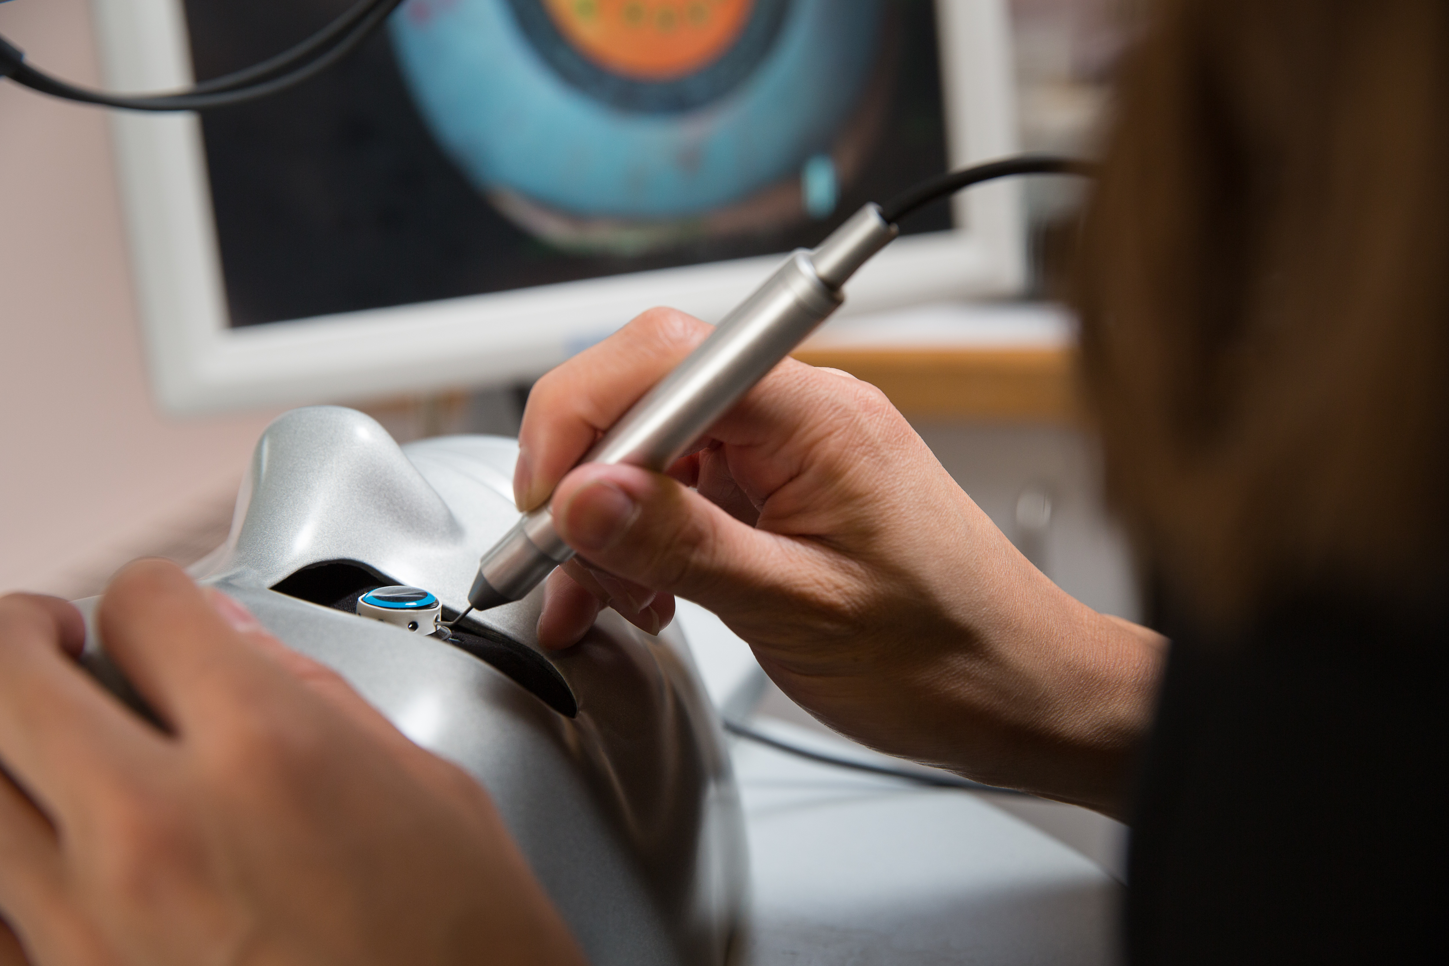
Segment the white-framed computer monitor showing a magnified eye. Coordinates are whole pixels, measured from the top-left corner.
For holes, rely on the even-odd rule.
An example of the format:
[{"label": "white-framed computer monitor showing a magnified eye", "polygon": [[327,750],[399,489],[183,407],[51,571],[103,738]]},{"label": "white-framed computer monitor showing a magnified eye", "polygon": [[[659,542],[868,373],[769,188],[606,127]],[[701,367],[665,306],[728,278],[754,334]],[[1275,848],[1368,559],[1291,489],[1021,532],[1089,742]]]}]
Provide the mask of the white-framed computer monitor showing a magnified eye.
[{"label": "white-framed computer monitor showing a magnified eye", "polygon": [[[97,0],[107,83],[185,85],[351,0]],[[658,304],[722,317],[865,201],[1010,154],[1003,0],[407,0],[307,84],[114,116],[174,413],[530,379]],[[1011,184],[959,196],[848,310],[1020,285]]]}]

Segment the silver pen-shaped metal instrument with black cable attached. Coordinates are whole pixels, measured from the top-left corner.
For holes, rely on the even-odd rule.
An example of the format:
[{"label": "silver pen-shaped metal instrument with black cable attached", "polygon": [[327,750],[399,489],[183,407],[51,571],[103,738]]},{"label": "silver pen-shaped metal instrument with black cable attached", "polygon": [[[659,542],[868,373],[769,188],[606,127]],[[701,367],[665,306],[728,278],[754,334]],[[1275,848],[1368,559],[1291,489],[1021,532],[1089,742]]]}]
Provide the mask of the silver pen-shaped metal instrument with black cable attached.
[{"label": "silver pen-shaped metal instrument with black cable attached", "polygon": [[[887,209],[867,204],[819,248],[798,249],[735,308],[700,348],[633,404],[581,463],[629,463],[664,471],[745,392],[840,307],[840,288],[897,235],[897,222],[966,185],[1014,174],[1088,174],[1090,165],[1027,156],[956,171],[929,181]],[[574,550],[554,529],[548,504],[523,514],[483,555],[468,610],[522,600]]]}]

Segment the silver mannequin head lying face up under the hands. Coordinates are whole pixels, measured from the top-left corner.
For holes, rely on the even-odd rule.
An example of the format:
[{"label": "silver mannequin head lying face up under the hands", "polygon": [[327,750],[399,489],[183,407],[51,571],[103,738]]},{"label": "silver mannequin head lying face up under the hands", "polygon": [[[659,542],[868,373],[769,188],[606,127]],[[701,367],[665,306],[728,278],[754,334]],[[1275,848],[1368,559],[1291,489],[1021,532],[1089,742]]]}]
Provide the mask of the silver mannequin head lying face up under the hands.
[{"label": "silver mannequin head lying face up under the hands", "polygon": [[[743,821],[681,636],[606,611],[582,643],[543,653],[539,591],[455,640],[355,613],[390,585],[436,595],[443,618],[464,610],[478,555],[517,518],[516,455],[488,436],[398,448],[361,413],[294,410],[258,442],[230,534],[196,575],[472,773],[590,962],[724,963]],[[87,666],[129,695],[103,647],[91,633]]]}]

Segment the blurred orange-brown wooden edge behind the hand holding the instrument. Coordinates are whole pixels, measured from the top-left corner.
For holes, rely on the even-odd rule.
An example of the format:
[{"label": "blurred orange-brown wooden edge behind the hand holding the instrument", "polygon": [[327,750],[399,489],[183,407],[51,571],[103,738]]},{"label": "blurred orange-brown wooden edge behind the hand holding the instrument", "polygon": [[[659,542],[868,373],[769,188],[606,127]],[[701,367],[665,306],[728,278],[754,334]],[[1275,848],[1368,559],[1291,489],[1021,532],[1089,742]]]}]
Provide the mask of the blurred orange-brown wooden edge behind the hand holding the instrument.
[{"label": "blurred orange-brown wooden edge behind the hand holding the instrument", "polygon": [[807,346],[794,356],[871,382],[916,419],[1071,423],[1078,413],[1071,349]]}]

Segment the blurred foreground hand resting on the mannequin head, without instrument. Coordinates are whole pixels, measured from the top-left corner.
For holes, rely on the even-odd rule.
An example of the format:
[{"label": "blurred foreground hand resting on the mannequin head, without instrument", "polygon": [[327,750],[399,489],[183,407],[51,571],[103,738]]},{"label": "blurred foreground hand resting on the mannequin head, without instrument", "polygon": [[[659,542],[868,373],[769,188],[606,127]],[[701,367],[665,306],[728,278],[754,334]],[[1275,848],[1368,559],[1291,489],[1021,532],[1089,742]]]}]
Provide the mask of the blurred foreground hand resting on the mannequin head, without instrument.
[{"label": "blurred foreground hand resting on the mannequin head, without instrument", "polygon": [[0,598],[0,963],[582,963],[487,792],[239,604],[149,560],[99,621],[165,731]]}]

